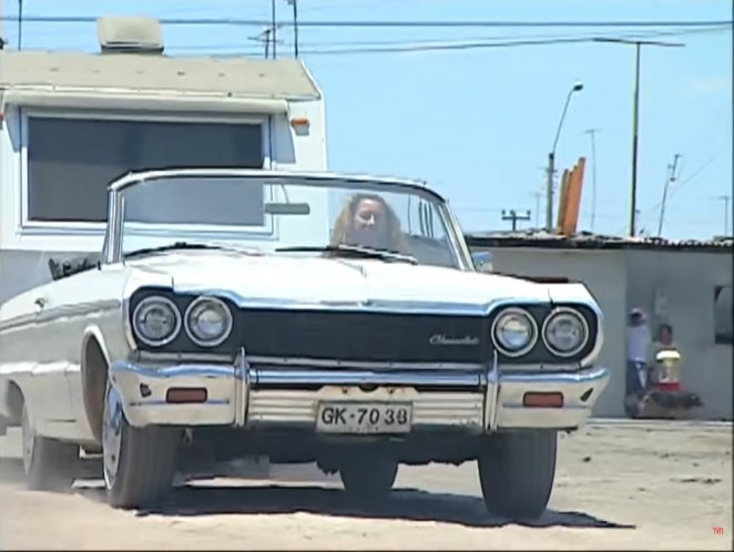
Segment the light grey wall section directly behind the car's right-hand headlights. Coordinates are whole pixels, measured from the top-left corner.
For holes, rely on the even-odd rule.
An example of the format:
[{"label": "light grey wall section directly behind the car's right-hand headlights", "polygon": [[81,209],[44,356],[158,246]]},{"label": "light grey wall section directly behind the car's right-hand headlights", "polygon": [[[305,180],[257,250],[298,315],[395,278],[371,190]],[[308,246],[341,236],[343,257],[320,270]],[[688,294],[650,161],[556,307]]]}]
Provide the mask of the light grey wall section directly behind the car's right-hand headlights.
[{"label": "light grey wall section directly behind the car's right-hand headlights", "polygon": [[[479,247],[472,251],[483,251]],[[549,251],[495,247],[496,272],[528,276],[557,276],[583,282],[604,314],[604,346],[600,365],[612,377],[597,402],[594,416],[624,416],[625,269],[623,252]]]}]

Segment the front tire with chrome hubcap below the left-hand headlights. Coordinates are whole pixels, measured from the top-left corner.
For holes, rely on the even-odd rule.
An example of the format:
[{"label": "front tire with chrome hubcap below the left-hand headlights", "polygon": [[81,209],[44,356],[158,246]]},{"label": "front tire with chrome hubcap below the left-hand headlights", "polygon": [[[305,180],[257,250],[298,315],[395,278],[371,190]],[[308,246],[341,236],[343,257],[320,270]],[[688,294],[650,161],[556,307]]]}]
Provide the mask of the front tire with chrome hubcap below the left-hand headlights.
[{"label": "front tire with chrome hubcap below the left-hand headlights", "polygon": [[179,433],[172,428],[134,428],[108,381],[102,421],[102,458],[108,502],[115,508],[150,508],[173,487]]}]

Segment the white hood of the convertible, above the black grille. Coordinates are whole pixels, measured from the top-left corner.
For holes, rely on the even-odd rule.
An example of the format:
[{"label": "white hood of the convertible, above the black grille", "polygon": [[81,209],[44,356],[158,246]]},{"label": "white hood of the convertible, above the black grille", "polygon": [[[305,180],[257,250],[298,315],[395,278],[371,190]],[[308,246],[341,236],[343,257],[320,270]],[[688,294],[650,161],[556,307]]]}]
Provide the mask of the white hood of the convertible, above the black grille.
[{"label": "white hood of the convertible, above the black grille", "polygon": [[241,306],[480,313],[498,299],[550,299],[547,286],[523,279],[379,259],[175,252],[128,264],[170,276],[176,293],[227,296]]}]

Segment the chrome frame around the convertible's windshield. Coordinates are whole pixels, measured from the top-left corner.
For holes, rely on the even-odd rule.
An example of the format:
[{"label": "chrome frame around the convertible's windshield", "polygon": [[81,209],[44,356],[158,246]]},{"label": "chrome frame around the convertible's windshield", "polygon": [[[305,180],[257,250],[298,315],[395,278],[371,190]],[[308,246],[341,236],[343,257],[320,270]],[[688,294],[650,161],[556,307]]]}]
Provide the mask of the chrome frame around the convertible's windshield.
[{"label": "chrome frame around the convertible's windshield", "polygon": [[385,185],[389,188],[401,188],[405,192],[414,192],[418,195],[427,194],[436,202],[439,214],[446,222],[446,233],[459,269],[475,272],[471,254],[467,246],[461,228],[455,214],[448,206],[446,200],[425,183],[407,178],[381,177],[371,175],[353,175],[330,172],[303,172],[303,171],[267,171],[262,168],[166,168],[159,171],[131,172],[121,176],[108,187],[108,226],[104,236],[104,248],[102,258],[105,264],[120,263],[122,260],[122,224],[123,224],[123,195],[129,187],[166,177],[216,177],[234,176],[243,178],[294,178],[308,185],[308,182],[318,182],[318,186],[327,187],[333,184],[337,187],[344,184],[373,184]]}]

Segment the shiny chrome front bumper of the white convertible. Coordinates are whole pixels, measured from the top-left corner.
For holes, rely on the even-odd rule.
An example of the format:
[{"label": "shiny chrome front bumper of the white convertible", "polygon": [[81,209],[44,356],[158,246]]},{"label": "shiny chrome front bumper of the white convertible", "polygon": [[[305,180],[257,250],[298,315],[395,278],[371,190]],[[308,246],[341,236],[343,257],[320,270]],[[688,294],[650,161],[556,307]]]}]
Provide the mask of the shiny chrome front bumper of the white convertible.
[{"label": "shiny chrome front bumper of the white convertible", "polygon": [[[113,385],[132,426],[314,429],[324,400],[411,402],[414,429],[496,431],[573,429],[591,416],[609,381],[605,368],[579,372],[486,374],[452,369],[370,371],[205,364],[167,367],[115,362]],[[201,403],[171,403],[171,387],[206,388]],[[435,389],[435,390],[432,390]],[[526,392],[562,392],[560,408],[524,407]]]}]

